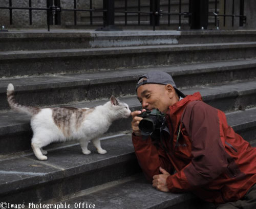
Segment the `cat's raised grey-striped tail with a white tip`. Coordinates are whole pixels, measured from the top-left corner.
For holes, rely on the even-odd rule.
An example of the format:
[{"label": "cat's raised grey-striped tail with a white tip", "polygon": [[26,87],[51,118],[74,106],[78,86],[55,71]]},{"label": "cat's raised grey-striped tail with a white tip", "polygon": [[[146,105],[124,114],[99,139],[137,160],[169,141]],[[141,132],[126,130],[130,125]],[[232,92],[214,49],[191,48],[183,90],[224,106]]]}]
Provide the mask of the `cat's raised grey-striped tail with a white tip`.
[{"label": "cat's raised grey-striped tail with a white tip", "polygon": [[40,111],[40,108],[37,107],[30,107],[18,104],[14,99],[14,86],[11,83],[9,83],[7,88],[7,101],[10,107],[18,112],[25,112],[29,115],[34,115]]}]

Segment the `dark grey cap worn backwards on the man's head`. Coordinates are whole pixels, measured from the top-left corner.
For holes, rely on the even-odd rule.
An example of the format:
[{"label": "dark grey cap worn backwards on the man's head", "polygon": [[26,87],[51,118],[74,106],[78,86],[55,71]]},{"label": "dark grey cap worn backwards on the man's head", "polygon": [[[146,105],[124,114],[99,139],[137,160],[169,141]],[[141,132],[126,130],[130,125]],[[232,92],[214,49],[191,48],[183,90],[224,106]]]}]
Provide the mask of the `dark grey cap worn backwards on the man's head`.
[{"label": "dark grey cap worn backwards on the man's head", "polygon": [[[142,78],[146,78],[146,79],[143,80]],[[165,72],[151,71],[140,76],[139,79],[137,80],[136,91],[138,87],[148,83],[162,84],[162,85],[170,84],[175,88],[177,94],[180,97],[183,97],[183,98],[186,97],[179,89],[177,89],[173,77]]]}]

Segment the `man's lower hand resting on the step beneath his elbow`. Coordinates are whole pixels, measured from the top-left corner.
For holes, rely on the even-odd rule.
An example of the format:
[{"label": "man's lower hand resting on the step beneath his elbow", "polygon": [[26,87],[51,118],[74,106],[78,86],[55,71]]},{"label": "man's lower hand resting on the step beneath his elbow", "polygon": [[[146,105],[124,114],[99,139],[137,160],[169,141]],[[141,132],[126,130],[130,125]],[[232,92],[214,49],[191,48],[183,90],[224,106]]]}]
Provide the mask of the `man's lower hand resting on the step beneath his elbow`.
[{"label": "man's lower hand resting on the step beneath his elbow", "polygon": [[153,176],[153,187],[161,192],[169,192],[169,189],[167,188],[166,179],[170,174],[165,171],[163,168],[159,168],[160,172],[162,174]]}]

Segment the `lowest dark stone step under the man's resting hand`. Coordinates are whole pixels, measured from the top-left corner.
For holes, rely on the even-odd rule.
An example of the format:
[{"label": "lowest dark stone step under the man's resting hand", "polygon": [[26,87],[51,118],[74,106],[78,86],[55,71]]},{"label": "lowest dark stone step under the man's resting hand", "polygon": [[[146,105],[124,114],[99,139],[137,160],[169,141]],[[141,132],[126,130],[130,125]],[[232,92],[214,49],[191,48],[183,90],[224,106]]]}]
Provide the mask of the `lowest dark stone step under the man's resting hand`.
[{"label": "lowest dark stone step under the man's resting hand", "polygon": [[[90,205],[95,208],[125,208],[125,209],[159,209],[159,208],[189,208],[189,209],[214,209],[214,204],[207,203],[191,193],[164,193],[159,192],[147,182],[144,177],[131,179],[127,182],[117,182],[114,185],[106,185],[106,188],[86,190],[78,197],[73,197],[64,202],[70,208],[77,208]],[[59,204],[60,202],[55,202]]]}]

